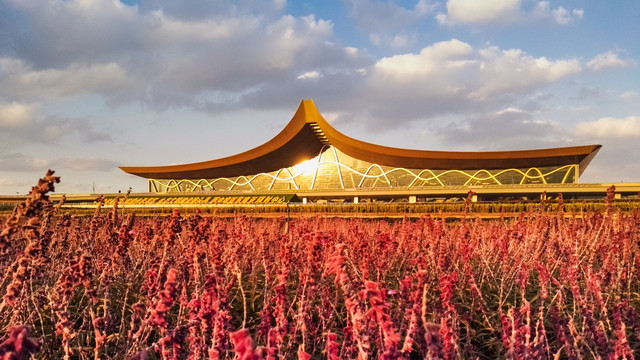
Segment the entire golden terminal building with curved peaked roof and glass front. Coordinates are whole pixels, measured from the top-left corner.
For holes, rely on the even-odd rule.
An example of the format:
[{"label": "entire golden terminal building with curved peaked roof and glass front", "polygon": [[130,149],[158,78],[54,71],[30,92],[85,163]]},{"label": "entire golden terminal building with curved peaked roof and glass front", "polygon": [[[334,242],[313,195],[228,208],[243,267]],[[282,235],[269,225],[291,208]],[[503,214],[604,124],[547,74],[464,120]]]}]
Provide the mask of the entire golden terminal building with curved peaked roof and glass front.
[{"label": "entire golden terminal building with curved peaked roof and glass front", "polygon": [[452,152],[387,147],[340,133],[312,100],[302,100],[285,128],[254,149],[198,163],[120,168],[146,178],[149,193],[158,195],[289,194],[303,201],[415,202],[460,197],[473,189],[486,198],[535,198],[543,192],[581,197],[610,186],[579,184],[600,148]]}]

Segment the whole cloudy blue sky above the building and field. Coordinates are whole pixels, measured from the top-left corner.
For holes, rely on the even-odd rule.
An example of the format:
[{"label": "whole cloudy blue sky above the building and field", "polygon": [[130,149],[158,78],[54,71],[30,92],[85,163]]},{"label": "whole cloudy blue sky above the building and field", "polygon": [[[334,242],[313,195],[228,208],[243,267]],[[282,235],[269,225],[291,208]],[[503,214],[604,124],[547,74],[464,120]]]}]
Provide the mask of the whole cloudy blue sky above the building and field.
[{"label": "whole cloudy blue sky above the building and field", "polygon": [[386,146],[601,144],[640,182],[637,0],[0,0],[0,194],[147,190],[118,166],[252,149],[313,99]]}]

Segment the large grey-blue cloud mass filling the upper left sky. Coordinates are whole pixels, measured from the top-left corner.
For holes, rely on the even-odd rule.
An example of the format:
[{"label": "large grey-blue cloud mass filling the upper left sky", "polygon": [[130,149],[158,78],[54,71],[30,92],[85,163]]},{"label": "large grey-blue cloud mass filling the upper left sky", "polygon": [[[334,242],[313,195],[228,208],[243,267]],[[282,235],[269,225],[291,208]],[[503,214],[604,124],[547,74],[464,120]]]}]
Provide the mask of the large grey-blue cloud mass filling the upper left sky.
[{"label": "large grey-blue cloud mass filling the upper left sky", "polygon": [[[270,7],[272,15],[247,11],[254,2]],[[196,1],[208,14],[197,16],[186,13],[190,6],[165,1],[132,7],[118,1],[11,2],[0,16],[22,17],[28,28],[5,31],[13,46],[0,47],[0,96],[95,93],[110,105],[213,108],[261,84],[370,61],[334,41],[330,21],[283,15],[281,2],[211,3],[217,2]]]}]

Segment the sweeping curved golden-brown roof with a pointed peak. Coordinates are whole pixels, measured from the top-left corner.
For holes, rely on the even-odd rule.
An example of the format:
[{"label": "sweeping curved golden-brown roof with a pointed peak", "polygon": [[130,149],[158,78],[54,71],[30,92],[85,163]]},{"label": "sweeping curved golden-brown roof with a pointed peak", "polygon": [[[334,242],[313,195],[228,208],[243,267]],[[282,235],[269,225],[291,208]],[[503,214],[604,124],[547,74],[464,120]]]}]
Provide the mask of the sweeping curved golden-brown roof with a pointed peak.
[{"label": "sweeping curved golden-brown roof with a pointed peak", "polygon": [[431,170],[531,168],[579,164],[580,174],[601,145],[538,150],[453,152],[399,149],[350,138],[322,118],[312,100],[302,100],[291,121],[273,139],[237,155],[183,165],[121,166],[153,179],[207,179],[267,173],[318,155],[324,145],[374,164]]}]

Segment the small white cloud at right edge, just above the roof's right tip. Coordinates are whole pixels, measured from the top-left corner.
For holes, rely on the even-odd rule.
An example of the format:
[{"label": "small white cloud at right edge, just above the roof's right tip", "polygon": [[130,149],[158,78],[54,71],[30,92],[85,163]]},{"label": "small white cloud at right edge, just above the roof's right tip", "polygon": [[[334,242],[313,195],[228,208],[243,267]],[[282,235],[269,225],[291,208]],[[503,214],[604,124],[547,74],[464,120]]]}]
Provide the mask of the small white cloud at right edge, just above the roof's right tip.
[{"label": "small white cloud at right edge, just above the roof's right tip", "polygon": [[640,116],[622,119],[604,117],[596,121],[582,122],[576,126],[576,132],[588,138],[634,138],[640,136]]}]

